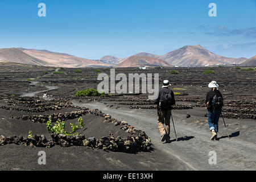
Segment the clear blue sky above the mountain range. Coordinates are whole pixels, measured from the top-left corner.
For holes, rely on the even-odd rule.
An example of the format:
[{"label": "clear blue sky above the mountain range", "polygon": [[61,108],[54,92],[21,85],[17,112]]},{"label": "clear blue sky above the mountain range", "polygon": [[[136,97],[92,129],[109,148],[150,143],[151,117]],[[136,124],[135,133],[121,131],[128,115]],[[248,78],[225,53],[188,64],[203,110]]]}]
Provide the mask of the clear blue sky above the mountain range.
[{"label": "clear blue sky above the mountain range", "polygon": [[[42,2],[46,17],[38,16]],[[256,55],[256,0],[0,0],[0,22],[0,48],[99,59],[200,44],[228,57]]]}]

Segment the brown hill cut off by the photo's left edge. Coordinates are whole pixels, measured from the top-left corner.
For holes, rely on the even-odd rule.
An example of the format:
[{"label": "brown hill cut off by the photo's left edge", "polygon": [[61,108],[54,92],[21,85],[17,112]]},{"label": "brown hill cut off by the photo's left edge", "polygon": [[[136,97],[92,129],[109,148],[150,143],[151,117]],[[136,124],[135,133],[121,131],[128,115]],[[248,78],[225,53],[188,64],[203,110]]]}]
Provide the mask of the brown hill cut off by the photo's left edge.
[{"label": "brown hill cut off by the photo's left edge", "polygon": [[21,64],[51,66],[46,61],[30,56],[17,48],[0,49],[0,60]]}]

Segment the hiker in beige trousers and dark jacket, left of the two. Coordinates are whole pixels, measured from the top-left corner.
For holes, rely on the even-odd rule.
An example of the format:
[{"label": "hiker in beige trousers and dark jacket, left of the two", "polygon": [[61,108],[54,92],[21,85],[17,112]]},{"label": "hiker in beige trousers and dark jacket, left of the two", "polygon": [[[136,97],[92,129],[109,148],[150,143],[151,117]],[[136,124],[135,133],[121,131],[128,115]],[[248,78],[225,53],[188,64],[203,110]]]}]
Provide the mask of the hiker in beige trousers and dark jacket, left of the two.
[{"label": "hiker in beige trousers and dark jacket, left of the two", "polygon": [[162,89],[159,90],[158,98],[155,100],[155,104],[158,105],[158,129],[162,142],[166,140],[167,143],[170,141],[171,106],[175,105],[174,92],[168,88],[169,85],[171,84],[168,80],[163,81]]}]

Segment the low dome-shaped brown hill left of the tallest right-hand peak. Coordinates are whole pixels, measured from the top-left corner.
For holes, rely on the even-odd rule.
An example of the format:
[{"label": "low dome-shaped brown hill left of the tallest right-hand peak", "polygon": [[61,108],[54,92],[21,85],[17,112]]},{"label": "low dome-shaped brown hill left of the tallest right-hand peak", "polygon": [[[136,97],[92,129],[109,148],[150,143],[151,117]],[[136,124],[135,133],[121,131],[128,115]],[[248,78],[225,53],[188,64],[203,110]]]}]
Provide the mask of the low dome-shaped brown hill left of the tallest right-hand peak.
[{"label": "low dome-shaped brown hill left of the tallest right-hand peak", "polygon": [[155,57],[146,57],[146,56],[130,56],[124,59],[121,63],[115,67],[172,67],[172,65],[166,63],[162,59]]}]

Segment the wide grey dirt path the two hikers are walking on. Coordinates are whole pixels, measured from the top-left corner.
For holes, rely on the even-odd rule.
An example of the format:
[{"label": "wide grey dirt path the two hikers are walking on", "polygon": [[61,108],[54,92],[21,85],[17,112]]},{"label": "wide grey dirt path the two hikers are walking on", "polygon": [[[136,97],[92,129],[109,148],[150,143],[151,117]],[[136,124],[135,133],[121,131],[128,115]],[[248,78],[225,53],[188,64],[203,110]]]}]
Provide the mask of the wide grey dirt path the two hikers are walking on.
[{"label": "wide grey dirt path the two hikers are walking on", "polygon": [[[210,133],[207,127],[200,124],[189,124],[184,122],[184,115],[173,111],[175,129],[178,142],[174,141],[175,135],[171,126],[171,143],[160,142],[160,135],[157,128],[156,110],[130,110],[125,107],[110,109],[101,102],[81,104],[73,101],[73,104],[85,106],[92,109],[99,109],[110,114],[119,120],[125,120],[130,125],[141,129],[151,138],[152,144],[157,150],[163,151],[171,158],[176,158],[188,168],[195,170],[255,170],[256,169],[256,144],[248,142],[242,137],[221,137],[225,136],[224,126],[220,125],[221,137],[218,141],[209,140]],[[200,118],[199,118],[200,119]],[[205,119],[205,118],[204,118]],[[255,125],[253,126],[255,128]],[[255,138],[254,136],[251,136]],[[217,164],[209,164],[209,152],[215,151]]]}]

